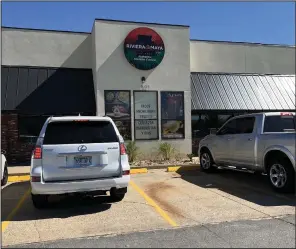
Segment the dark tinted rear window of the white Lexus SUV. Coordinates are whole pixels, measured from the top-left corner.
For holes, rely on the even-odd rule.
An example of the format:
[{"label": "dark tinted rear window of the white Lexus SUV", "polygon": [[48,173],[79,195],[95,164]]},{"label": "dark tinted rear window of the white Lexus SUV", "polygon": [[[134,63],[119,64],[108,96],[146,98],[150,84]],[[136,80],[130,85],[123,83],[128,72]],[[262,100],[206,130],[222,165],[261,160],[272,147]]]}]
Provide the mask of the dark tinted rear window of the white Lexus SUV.
[{"label": "dark tinted rear window of the white Lexus SUV", "polygon": [[108,121],[63,121],[49,123],[43,144],[80,144],[118,142],[113,125]]}]

